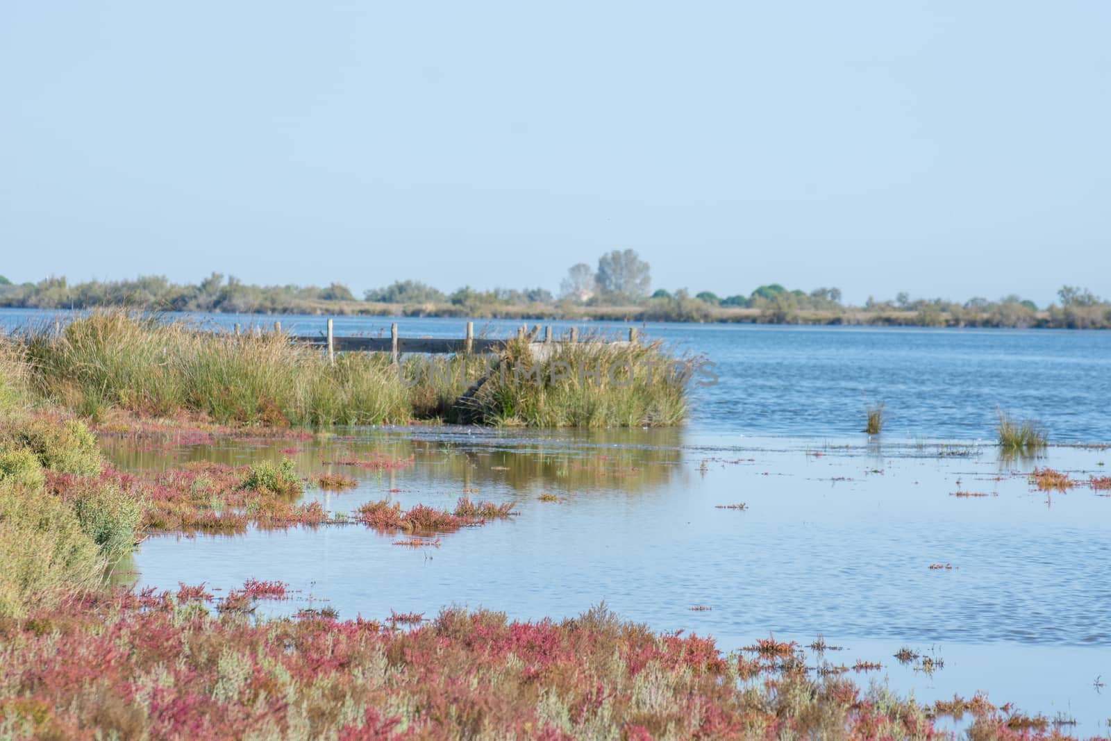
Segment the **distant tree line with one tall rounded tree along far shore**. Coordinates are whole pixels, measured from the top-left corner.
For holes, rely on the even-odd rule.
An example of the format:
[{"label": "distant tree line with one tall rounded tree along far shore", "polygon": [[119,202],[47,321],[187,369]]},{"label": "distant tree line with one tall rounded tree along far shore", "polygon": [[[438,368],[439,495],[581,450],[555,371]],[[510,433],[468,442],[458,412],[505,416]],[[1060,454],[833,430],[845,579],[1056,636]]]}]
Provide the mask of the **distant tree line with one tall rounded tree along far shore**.
[{"label": "distant tree line with one tall rounded tree along far shore", "polygon": [[558,296],[543,288],[479,290],[464,286],[451,293],[414,280],[396,281],[366,291],[362,301],[347,286],[248,286],[234,277],[212,273],[197,284],[172,283],[164,277],[89,281],[64,278],[14,284],[0,276],[0,307],[91,309],[124,306],[162,311],[243,313],[403,313],[427,317],[506,317],[624,319],[635,321],[741,321],[765,323],[914,324],[921,327],[1059,327],[1111,328],[1111,303],[1087,289],[1067,286],[1059,303],[1039,309],[1032,301],[1007,296],[995,301],[973,298],[963,303],[943,299],[893,300],[869,297],[863,307],[845,306],[837,288],[790,290],[779,283],[752,292],[719,297],[691,294],[684,288],[650,293],[651,269],[634,250],[613,250],[595,267],[572,266]]}]

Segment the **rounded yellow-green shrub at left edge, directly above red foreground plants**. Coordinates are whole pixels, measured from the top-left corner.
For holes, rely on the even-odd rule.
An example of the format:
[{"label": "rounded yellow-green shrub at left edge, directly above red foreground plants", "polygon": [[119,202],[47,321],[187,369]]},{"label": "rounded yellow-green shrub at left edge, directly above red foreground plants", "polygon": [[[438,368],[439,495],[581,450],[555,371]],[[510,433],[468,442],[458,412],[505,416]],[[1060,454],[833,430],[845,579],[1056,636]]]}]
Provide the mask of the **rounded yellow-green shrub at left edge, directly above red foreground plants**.
[{"label": "rounded yellow-green shrub at left edge, directly above red foreground plants", "polygon": [[21,618],[98,585],[104,561],[66,502],[0,483],[0,618]]}]

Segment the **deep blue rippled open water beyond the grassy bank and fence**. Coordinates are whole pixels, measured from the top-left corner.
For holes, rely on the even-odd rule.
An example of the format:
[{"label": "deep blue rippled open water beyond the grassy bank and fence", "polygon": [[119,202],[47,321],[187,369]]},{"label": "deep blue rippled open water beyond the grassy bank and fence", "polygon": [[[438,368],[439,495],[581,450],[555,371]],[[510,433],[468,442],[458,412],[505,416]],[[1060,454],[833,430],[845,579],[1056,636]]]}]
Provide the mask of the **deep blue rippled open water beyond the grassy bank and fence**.
[{"label": "deep blue rippled open water beyond the grassy bank and fence", "polygon": [[[0,328],[49,321],[53,311],[0,310]],[[62,314],[64,318],[66,314]],[[323,317],[166,314],[213,328],[272,326],[322,334]],[[462,337],[464,320],[337,317],[337,334]],[[572,324],[544,322],[557,333]],[[507,337],[517,321],[476,321]],[[531,326],[531,322],[530,322]],[[574,324],[623,337],[629,324]],[[642,334],[702,356],[718,382],[692,388],[690,425],[747,435],[839,437],[885,403],[889,437],[993,437],[997,408],[1043,423],[1059,442],[1111,441],[1111,332],[1012,329],[769,327],[642,323]]]}]

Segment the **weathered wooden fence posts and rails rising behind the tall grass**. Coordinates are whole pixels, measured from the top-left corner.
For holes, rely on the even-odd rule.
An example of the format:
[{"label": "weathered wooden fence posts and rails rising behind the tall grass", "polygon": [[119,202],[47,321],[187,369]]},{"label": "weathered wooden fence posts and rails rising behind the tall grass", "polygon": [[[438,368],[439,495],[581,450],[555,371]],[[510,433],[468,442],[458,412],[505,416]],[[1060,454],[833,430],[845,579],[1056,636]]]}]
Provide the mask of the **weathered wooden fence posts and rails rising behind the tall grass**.
[{"label": "weathered wooden fence posts and rails rising behind the tall grass", "polygon": [[[281,333],[281,322],[274,322],[274,332]],[[261,327],[254,328],[256,334],[262,333]],[[242,334],[242,327],[236,324],[236,336]],[[529,331],[527,324],[521,324],[517,330],[518,339],[529,339],[530,343],[533,346],[552,346],[559,343],[575,343],[579,341],[579,330],[572,327],[567,339],[557,340],[552,336],[551,326],[544,327],[543,340],[538,340],[540,336],[540,326],[534,324],[532,331]],[[402,352],[431,352],[431,353],[456,353],[463,352],[466,354],[483,353],[483,352],[499,352],[506,347],[508,340],[492,340],[487,338],[476,338],[474,337],[474,322],[467,322],[467,327],[462,339],[456,338],[431,338],[431,337],[398,337],[398,326],[397,323],[390,324],[390,337],[336,337],[332,332],[332,320],[328,320],[328,330],[323,337],[320,336],[290,336],[291,342],[299,342],[302,344],[310,344],[320,347],[328,351],[328,359],[331,362],[336,362],[336,353],[344,351],[362,351],[362,352],[389,352],[393,362],[398,362],[398,357]],[[634,327],[629,328],[629,341],[628,343],[637,342],[637,329]],[[625,342],[617,342],[612,344],[625,344]],[[537,348],[539,349],[539,348]]]}]

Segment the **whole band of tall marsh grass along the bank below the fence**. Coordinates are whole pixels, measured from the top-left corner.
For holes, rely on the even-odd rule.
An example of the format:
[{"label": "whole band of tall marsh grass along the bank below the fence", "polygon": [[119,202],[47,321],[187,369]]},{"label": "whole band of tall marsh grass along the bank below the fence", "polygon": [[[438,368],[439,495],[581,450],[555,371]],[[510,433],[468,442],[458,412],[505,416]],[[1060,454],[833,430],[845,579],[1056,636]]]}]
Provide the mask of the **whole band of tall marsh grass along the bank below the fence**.
[{"label": "whole band of tall marsh grass along the bank below the fence", "polygon": [[[397,367],[387,353],[346,352],[332,364],[319,349],[291,343],[286,334],[202,331],[120,310],[76,317],[60,334],[47,326],[26,328],[18,341],[4,341],[0,362],[20,369],[21,384],[93,421],[113,409],[266,427],[414,419],[595,428],[682,421],[685,390],[668,378],[688,380],[690,360],[674,363],[659,342],[615,347],[598,340],[558,346],[542,363],[532,360],[526,341],[509,342],[496,363],[508,372],[486,382],[466,407],[457,401],[486,373],[484,357],[411,356]],[[569,377],[552,380],[546,372],[544,382],[533,383],[514,374],[523,368],[536,378],[552,363],[567,363]],[[631,378],[623,367],[609,377],[614,363],[628,363]],[[593,372],[599,367],[600,378]]]}]

